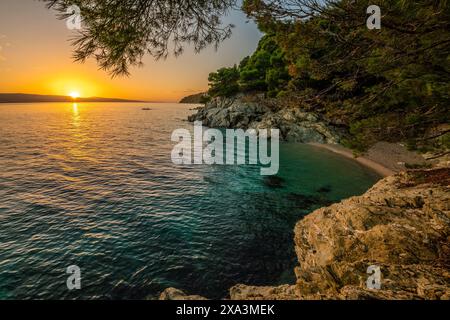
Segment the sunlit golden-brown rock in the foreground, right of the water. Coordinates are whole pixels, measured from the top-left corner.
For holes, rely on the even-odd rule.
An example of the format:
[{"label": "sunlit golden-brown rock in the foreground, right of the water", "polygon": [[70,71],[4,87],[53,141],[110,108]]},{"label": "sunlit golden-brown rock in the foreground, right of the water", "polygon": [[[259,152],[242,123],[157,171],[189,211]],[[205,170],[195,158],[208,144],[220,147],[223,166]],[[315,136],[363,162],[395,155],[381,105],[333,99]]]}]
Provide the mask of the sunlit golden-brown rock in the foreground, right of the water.
[{"label": "sunlit golden-brown rock in the foreground, right of the water", "polygon": [[[450,299],[450,168],[402,172],[295,227],[297,282],[236,285],[230,299]],[[381,289],[369,289],[369,266]],[[201,299],[167,289],[161,299]]]}]

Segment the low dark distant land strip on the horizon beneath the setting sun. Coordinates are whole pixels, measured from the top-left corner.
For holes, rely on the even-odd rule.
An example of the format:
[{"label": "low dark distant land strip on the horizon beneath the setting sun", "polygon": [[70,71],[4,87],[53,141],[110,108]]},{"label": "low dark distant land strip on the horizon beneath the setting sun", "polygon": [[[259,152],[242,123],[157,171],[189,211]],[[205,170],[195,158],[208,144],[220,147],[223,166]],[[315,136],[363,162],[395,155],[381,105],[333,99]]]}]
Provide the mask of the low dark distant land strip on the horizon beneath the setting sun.
[{"label": "low dark distant land strip on the horizon beneath the setting sun", "polygon": [[32,102],[147,102],[117,98],[72,98],[69,96],[53,96],[24,93],[0,93],[0,103],[32,103]]}]

